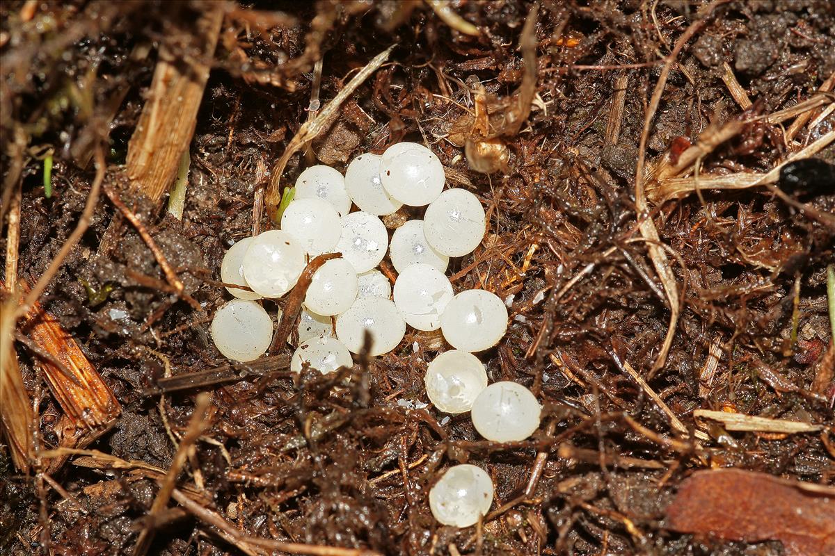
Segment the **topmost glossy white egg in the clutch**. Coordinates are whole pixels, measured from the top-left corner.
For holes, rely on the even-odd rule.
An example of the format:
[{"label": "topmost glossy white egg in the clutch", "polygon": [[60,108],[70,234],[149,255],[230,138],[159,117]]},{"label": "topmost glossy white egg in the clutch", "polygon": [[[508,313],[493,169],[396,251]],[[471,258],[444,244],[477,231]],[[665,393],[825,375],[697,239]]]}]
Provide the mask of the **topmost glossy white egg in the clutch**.
[{"label": "topmost glossy white egg in the clutch", "polygon": [[397,201],[411,207],[432,203],[443,189],[443,164],[418,143],[395,143],[382,153],[382,187]]}]

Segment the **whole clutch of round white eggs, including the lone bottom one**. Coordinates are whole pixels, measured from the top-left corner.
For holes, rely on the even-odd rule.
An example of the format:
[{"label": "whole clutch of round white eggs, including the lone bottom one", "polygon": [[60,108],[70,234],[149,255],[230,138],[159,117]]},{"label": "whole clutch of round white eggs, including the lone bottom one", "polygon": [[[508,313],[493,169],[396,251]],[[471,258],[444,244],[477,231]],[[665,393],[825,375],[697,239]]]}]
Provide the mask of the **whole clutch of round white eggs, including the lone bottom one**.
[{"label": "whole clutch of round white eggs, including the lone bottom one", "polygon": [[[225,254],[220,278],[235,299],[217,310],[211,324],[220,353],[242,362],[266,353],[273,322],[258,300],[288,293],[311,258],[342,253],[311,278],[292,371],[307,365],[330,373],[351,367],[352,353],[377,356],[397,348],[407,326],[440,329],[453,349],[428,365],[429,400],[444,413],[470,412],[488,440],[528,438],[539,427],[534,394],[512,382],[488,385],[473,354],[492,348],[507,331],[504,302],[481,289],[456,294],[446,275],[449,258],[472,253],[482,242],[486,215],[473,193],[444,190],[445,181],[438,157],[418,143],[396,143],[382,155],[363,153],[344,177],[327,166],[307,168],[281,215],[281,229],[243,238]],[[423,219],[403,223],[389,242],[380,217],[403,205],[426,207]],[[397,272],[393,288],[377,270],[386,256]],[[429,493],[435,518],[456,527],[476,523],[492,499],[492,480],[473,465],[448,468]]]}]

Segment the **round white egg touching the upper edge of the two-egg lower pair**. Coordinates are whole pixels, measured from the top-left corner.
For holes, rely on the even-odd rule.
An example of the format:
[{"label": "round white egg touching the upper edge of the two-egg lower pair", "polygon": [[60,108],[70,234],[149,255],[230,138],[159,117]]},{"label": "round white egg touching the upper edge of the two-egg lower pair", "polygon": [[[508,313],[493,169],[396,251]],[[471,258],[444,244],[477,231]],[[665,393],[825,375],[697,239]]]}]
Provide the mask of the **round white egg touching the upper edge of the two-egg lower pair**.
[{"label": "round white egg touching the upper edge of the two-egg lower pair", "polygon": [[508,329],[508,308],[495,293],[468,289],[458,293],[441,315],[443,338],[467,352],[492,348]]}]

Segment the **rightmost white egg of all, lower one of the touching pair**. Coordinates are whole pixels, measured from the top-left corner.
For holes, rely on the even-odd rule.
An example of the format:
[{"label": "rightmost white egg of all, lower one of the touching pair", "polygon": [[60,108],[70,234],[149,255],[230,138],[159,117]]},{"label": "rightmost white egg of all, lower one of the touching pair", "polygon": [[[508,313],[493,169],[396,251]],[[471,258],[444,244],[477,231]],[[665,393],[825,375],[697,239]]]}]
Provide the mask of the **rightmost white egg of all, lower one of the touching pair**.
[{"label": "rightmost white egg of all, lower one of the touching pair", "polygon": [[473,427],[488,440],[516,442],[539,428],[541,408],[534,393],[521,384],[492,383],[473,402]]}]

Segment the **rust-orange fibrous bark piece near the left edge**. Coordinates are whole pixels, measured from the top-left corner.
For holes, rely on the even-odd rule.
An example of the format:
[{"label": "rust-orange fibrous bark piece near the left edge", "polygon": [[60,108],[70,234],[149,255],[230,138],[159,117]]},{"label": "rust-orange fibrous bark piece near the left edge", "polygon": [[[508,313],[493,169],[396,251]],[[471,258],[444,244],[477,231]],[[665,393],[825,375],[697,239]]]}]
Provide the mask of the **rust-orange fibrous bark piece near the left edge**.
[{"label": "rust-orange fibrous bark piece near the left edge", "polygon": [[49,356],[40,358],[43,374],[55,399],[76,427],[106,428],[119,417],[119,401],[107,383],[73,337],[39,303],[33,304],[21,330]]}]

